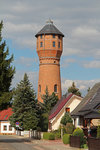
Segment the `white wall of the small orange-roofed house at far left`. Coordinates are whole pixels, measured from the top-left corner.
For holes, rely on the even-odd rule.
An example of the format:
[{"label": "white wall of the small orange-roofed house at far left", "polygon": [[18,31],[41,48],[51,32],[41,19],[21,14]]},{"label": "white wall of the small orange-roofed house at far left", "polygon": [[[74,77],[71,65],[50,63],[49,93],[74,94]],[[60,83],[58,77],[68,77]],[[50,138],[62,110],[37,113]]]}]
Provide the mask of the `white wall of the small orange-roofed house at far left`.
[{"label": "white wall of the small orange-roofed house at far left", "polygon": [[[7,130],[4,130],[4,126],[7,127]],[[12,130],[9,130],[10,122],[1,121],[0,122],[0,134],[15,134],[15,129],[12,127]]]}]

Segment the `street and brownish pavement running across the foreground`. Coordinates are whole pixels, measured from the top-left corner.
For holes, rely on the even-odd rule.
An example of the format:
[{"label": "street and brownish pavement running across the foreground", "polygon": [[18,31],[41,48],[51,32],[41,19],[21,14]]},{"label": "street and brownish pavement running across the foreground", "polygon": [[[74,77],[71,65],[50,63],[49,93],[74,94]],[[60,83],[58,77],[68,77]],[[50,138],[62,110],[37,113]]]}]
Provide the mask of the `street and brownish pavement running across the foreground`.
[{"label": "street and brownish pavement running across the foreground", "polygon": [[[63,144],[61,140],[31,140],[20,136],[0,135],[0,150],[79,150]],[[84,149],[85,150],[85,149]]]}]

